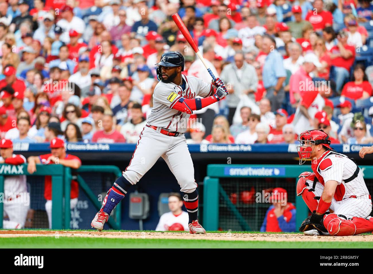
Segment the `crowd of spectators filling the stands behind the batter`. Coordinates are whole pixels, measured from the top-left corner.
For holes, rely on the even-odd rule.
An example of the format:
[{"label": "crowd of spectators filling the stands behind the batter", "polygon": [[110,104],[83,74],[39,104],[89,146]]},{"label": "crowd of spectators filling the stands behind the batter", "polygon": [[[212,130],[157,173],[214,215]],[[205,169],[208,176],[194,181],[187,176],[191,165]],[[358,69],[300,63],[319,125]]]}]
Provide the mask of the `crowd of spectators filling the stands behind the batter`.
[{"label": "crowd of spectators filling the stands behind the batter", "polygon": [[175,12],[229,91],[192,114],[188,144],[373,142],[368,0],[1,1],[0,138],[136,143],[162,53],[211,82]]}]

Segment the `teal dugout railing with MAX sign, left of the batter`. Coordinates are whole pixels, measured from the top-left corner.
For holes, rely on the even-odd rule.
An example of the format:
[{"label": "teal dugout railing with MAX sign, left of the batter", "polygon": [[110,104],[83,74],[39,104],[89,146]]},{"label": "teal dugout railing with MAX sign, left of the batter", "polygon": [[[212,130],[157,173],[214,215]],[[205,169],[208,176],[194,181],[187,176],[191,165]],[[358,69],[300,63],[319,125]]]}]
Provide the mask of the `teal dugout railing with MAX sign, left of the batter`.
[{"label": "teal dugout railing with MAX sign, left of the batter", "polygon": [[[85,195],[95,206],[97,211],[101,208],[102,195],[98,197],[85,182],[82,177],[85,173],[110,173],[115,177],[119,177],[122,171],[117,166],[81,166],[76,170],[78,174],[74,178]],[[4,195],[4,177],[26,175],[26,176],[47,176],[50,175],[52,179],[52,229],[70,229],[70,182],[73,179],[71,169],[62,165],[36,165],[36,171],[29,174],[27,171],[27,164],[9,165],[0,164],[0,229],[3,228],[3,199]],[[74,175],[75,176],[75,175]],[[41,177],[43,178],[43,177]],[[44,182],[44,178],[42,179]],[[27,182],[29,182],[27,178]],[[32,197],[31,197],[32,199]],[[117,207],[113,212],[112,217],[109,218],[109,226],[112,229],[120,229],[121,208]]]}]

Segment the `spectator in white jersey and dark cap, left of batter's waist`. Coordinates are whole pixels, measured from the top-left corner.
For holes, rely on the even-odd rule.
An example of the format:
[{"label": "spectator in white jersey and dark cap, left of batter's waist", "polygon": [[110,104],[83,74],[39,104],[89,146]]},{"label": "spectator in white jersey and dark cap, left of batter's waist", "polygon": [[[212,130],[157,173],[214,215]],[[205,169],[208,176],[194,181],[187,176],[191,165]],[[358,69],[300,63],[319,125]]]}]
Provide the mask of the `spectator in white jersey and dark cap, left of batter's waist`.
[{"label": "spectator in white jersey and dark cap, left of batter's waist", "polygon": [[120,133],[122,133],[127,143],[135,144],[137,143],[140,133],[144,129],[145,125],[146,120],[144,119],[141,105],[134,103],[131,107],[131,120],[120,128]]}]

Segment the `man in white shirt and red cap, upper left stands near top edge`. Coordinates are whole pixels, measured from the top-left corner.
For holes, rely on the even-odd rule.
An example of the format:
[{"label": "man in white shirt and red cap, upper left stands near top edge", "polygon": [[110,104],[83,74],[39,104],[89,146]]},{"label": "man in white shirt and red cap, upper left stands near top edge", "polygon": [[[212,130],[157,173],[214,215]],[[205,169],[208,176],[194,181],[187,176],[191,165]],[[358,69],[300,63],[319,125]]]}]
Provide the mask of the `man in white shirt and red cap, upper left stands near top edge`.
[{"label": "man in white shirt and red cap, upper left stands near top edge", "polygon": [[57,26],[63,29],[63,33],[59,40],[68,44],[70,42],[70,30],[73,29],[79,34],[82,34],[85,30],[85,23],[81,18],[74,16],[73,8],[70,6],[62,6],[60,12],[62,19],[57,22]]}]

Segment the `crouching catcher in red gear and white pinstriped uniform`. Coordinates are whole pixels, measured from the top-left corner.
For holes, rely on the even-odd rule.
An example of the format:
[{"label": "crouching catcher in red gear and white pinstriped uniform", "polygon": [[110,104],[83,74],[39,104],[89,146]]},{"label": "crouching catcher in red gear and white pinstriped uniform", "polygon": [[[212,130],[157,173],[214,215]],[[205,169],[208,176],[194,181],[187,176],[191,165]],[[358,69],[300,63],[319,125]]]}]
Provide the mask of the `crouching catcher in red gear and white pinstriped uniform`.
[{"label": "crouching catcher in red gear and white pinstriped uniform", "polygon": [[300,174],[297,183],[297,195],[312,211],[299,230],[332,236],[372,232],[372,200],[355,161],[335,152],[323,130],[305,131],[298,141],[299,163],[311,159],[313,171]]}]

